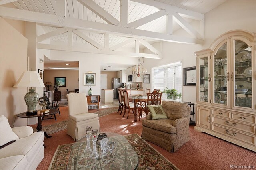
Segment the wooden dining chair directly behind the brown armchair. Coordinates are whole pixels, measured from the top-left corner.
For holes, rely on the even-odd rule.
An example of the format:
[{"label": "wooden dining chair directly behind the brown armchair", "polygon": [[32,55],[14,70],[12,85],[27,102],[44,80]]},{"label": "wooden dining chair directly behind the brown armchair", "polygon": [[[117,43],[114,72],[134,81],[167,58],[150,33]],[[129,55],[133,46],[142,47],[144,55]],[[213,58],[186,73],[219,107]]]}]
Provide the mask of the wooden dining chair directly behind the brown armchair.
[{"label": "wooden dining chair directly behind the brown armchair", "polygon": [[154,90],[152,93],[147,93],[147,102],[140,101],[139,103],[139,121],[140,117],[142,117],[142,111],[148,115],[148,107],[147,105],[160,105],[162,101],[162,93],[158,93],[156,90]]}]

